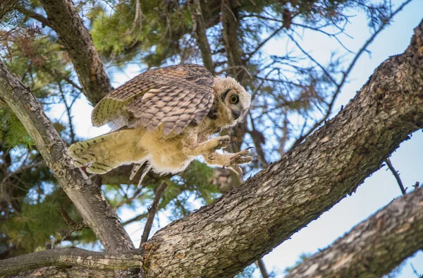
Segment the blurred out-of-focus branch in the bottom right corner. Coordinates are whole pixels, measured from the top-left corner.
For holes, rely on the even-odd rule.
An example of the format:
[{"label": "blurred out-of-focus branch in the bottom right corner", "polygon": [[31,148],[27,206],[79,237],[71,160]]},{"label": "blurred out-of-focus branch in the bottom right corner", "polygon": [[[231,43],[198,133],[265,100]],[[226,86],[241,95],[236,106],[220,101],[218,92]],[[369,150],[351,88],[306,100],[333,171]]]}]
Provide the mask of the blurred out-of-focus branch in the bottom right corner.
[{"label": "blurred out-of-focus branch in the bottom right corner", "polygon": [[286,278],[382,277],[423,248],[422,234],[423,188],[419,188],[355,226]]}]

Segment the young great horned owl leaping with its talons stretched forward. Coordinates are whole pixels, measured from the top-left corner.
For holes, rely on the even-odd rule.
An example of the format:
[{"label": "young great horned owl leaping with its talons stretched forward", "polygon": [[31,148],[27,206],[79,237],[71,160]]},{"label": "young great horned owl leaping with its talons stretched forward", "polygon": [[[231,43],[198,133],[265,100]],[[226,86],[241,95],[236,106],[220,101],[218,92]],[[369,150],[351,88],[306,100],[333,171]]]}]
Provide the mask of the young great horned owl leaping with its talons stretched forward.
[{"label": "young great horned owl leaping with its talons stretched forward", "polygon": [[132,163],[137,170],[145,162],[147,171],[176,174],[200,155],[209,165],[240,174],[239,164],[252,162],[248,150],[219,154],[215,151],[227,147],[231,137],[210,135],[243,119],[250,101],[235,79],[213,77],[203,66],[156,68],[121,85],[94,107],[93,125],[109,123],[114,131],[75,143],[68,153],[75,166],[88,165],[87,171],[96,174]]}]

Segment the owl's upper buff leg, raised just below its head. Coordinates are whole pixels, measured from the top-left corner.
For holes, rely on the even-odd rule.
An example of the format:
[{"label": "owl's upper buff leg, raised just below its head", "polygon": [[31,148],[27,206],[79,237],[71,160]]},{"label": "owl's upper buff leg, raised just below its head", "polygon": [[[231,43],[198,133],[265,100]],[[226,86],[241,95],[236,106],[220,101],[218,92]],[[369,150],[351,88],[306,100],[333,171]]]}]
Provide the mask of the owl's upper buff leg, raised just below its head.
[{"label": "owl's upper buff leg, raised just below its head", "polygon": [[205,153],[214,152],[215,150],[228,147],[229,144],[233,143],[231,136],[219,136],[207,140],[204,143],[187,142],[183,144],[183,152],[185,155],[203,155]]}]

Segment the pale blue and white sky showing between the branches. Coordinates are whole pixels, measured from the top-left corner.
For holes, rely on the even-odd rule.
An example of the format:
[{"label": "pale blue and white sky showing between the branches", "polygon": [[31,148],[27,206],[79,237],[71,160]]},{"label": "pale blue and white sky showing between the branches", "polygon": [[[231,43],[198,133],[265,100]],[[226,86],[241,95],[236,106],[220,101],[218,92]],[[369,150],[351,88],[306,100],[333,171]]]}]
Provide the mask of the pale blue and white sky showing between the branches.
[{"label": "pale blue and white sky showing between the branches", "polygon": [[[400,2],[393,1],[393,3]],[[357,90],[360,90],[373,73],[374,68],[379,66],[389,56],[400,54],[405,50],[410,43],[413,28],[418,25],[422,18],[423,0],[414,0],[394,18],[391,26],[388,26],[386,30],[376,37],[376,40],[368,48],[371,54],[364,53],[353,68],[349,78],[350,82],[343,87],[341,95],[336,101],[333,116],[339,111],[341,105],[347,104],[354,97]],[[346,32],[353,38],[344,37],[344,42],[350,49],[356,51],[369,37],[369,28],[367,28],[364,15],[350,18],[350,21],[352,24],[350,24]],[[302,35],[304,37],[302,47],[309,50],[317,61],[327,61],[328,45],[335,45],[336,42],[311,32],[304,32]],[[282,43],[277,39],[271,40],[265,45],[264,51],[268,54],[278,54]],[[116,87],[138,73],[140,73],[140,69],[131,66],[126,68],[124,72],[114,72],[111,75],[113,85]],[[75,124],[75,132],[80,138],[92,138],[95,135],[109,131],[106,126],[102,128],[91,126],[88,119],[90,119],[92,106],[88,104],[86,99],[79,99],[74,107],[78,107],[73,109],[73,122],[77,123]],[[50,116],[61,115],[61,113],[56,114],[54,112],[59,111],[58,109],[52,109],[51,111]],[[422,157],[422,131],[417,131],[413,134],[412,139],[402,143],[391,156],[391,162],[399,171],[405,186],[411,188],[416,181],[423,183]],[[341,200],[331,210],[322,214],[319,219],[311,222],[307,227],[294,234],[288,241],[274,248],[271,253],[264,257],[266,268],[269,272],[273,270],[276,273],[276,277],[283,277],[283,270],[286,267],[295,265],[301,254],[316,253],[319,249],[331,245],[336,238],[343,236],[353,226],[367,219],[377,210],[390,203],[391,200],[400,196],[400,194],[400,189],[393,175],[387,170],[387,167],[382,167],[367,178],[357,189],[356,193]],[[195,200],[192,200],[192,202],[195,203]],[[200,206],[200,204],[197,205]],[[135,211],[121,210],[120,217],[125,221],[125,219],[130,219],[144,211],[145,207],[140,207]],[[161,227],[168,223],[167,213],[163,212],[158,217]],[[158,227],[156,224],[154,229]],[[139,244],[142,228],[143,223],[135,223],[125,227],[128,234],[133,238],[135,246]],[[154,231],[152,234],[154,234]],[[411,265],[415,267],[419,274],[423,274],[422,251],[406,260],[397,277],[417,277],[413,273]],[[255,277],[259,277],[258,271],[255,272]]]}]

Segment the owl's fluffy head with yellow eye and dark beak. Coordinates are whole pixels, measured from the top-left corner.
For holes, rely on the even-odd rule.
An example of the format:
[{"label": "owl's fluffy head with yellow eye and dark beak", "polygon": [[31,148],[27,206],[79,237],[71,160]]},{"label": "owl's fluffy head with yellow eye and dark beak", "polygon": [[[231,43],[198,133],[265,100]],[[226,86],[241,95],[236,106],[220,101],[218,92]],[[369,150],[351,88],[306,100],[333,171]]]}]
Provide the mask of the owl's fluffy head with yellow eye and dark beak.
[{"label": "owl's fluffy head with yellow eye and dark beak", "polygon": [[212,115],[221,122],[221,127],[235,126],[242,121],[250,109],[251,95],[231,77],[214,78],[214,105]]}]

